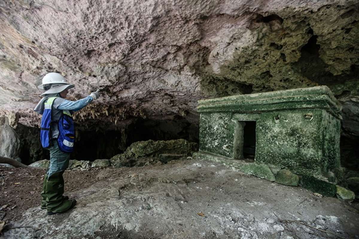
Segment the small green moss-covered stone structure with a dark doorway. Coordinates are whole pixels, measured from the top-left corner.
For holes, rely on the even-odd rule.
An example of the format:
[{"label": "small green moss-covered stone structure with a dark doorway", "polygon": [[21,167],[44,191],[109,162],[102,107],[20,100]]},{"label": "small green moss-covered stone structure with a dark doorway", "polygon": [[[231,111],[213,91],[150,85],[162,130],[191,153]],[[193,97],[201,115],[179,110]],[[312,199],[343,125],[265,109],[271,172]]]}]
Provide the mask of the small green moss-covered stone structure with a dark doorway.
[{"label": "small green moss-covered stone structure with a dark doorway", "polygon": [[339,102],[327,86],[200,100],[200,151],[300,175],[340,167]]}]

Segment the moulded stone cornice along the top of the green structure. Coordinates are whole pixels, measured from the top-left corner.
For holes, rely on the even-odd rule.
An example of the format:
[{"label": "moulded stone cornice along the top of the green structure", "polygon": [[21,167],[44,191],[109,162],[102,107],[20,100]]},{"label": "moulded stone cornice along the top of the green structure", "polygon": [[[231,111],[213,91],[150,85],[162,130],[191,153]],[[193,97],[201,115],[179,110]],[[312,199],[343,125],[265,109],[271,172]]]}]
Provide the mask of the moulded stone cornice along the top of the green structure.
[{"label": "moulded stone cornice along the top of the green structure", "polygon": [[327,86],[199,100],[198,112],[260,113],[303,108],[325,109],[336,118],[341,118],[340,103]]}]

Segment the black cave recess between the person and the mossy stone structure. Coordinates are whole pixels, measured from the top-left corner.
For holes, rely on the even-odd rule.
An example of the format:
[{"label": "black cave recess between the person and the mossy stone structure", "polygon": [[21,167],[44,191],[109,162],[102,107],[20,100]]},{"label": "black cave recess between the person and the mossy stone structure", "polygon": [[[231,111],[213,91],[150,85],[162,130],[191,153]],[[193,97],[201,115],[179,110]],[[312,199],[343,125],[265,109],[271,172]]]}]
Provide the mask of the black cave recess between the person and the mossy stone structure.
[{"label": "black cave recess between the person and the mossy stone structure", "polygon": [[122,130],[79,132],[71,159],[109,159],[137,141],[185,139],[198,143],[198,134],[198,125],[180,116],[173,120],[139,119]]}]

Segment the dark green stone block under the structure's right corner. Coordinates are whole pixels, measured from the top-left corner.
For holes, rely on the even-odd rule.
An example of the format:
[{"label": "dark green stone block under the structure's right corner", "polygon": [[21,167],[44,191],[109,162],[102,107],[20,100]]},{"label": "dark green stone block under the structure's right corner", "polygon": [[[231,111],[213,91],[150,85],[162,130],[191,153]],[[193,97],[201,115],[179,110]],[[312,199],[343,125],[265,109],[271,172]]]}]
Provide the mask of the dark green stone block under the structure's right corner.
[{"label": "dark green stone block under the structure's right corner", "polygon": [[336,193],[336,185],[323,179],[302,175],[301,185],[312,192],[320,193],[325,197],[334,197]]}]

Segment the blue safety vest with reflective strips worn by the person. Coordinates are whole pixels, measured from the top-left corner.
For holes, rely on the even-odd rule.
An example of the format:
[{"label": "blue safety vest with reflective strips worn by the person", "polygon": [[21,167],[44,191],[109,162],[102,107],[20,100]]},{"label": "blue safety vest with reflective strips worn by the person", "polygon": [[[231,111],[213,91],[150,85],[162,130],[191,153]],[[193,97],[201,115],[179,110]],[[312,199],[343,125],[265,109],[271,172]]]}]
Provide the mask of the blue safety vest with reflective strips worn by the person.
[{"label": "blue safety vest with reflective strips worn by the person", "polygon": [[[51,139],[51,109],[52,103],[57,97],[48,98],[45,102],[45,109],[42,114],[41,119],[41,129],[40,129],[40,140],[41,145],[44,148],[50,146]],[[74,150],[75,142],[75,126],[74,120],[71,116],[70,111],[62,111],[62,116],[58,122],[59,127],[59,137],[57,137],[57,143],[61,151],[66,153],[71,153]]]}]

